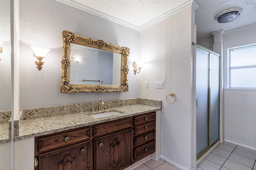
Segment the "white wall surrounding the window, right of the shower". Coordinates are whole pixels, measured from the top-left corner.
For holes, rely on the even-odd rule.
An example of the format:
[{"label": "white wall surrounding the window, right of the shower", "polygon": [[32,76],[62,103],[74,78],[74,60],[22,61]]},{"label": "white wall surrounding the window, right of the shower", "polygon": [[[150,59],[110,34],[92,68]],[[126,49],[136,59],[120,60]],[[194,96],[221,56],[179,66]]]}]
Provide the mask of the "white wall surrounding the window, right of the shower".
[{"label": "white wall surrounding the window, right of the shower", "polygon": [[[255,32],[256,27],[224,35],[224,88],[228,87],[227,49],[256,43]],[[224,140],[256,149],[255,103],[256,90],[224,90]]]}]

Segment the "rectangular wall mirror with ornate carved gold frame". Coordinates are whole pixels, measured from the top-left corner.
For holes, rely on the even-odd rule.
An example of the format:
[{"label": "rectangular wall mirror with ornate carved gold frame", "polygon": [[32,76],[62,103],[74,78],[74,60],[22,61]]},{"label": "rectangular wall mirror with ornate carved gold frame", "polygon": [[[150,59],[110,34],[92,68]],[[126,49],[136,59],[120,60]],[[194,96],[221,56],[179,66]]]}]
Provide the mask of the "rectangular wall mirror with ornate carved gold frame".
[{"label": "rectangular wall mirror with ornate carved gold frame", "polygon": [[128,47],[62,32],[62,93],[128,92]]}]

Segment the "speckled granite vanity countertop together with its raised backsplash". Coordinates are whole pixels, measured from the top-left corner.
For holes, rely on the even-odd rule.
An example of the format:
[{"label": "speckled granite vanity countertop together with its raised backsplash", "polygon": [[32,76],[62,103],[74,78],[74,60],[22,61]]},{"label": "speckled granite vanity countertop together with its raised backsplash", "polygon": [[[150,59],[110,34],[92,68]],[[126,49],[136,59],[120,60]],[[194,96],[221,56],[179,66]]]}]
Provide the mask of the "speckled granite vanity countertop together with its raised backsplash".
[{"label": "speckled granite vanity countertop together with its raised backsplash", "polygon": [[[90,115],[92,114],[102,113],[96,111],[98,110],[99,102],[20,110],[14,118],[14,140],[36,137],[139,115],[150,111],[160,110],[162,107],[162,101],[160,100],[142,98],[103,102],[106,105],[107,110],[102,110],[102,112],[117,111],[122,114],[97,119],[91,117]],[[94,106],[94,113],[92,113],[92,106]],[[1,131],[3,129],[3,131],[7,132],[2,133],[5,137],[6,135],[8,137],[8,131],[11,131],[10,125],[11,122],[9,122],[9,129],[8,123],[6,123],[7,128],[0,126]],[[8,142],[8,140],[1,140],[0,138],[0,143],[5,142]]]}]

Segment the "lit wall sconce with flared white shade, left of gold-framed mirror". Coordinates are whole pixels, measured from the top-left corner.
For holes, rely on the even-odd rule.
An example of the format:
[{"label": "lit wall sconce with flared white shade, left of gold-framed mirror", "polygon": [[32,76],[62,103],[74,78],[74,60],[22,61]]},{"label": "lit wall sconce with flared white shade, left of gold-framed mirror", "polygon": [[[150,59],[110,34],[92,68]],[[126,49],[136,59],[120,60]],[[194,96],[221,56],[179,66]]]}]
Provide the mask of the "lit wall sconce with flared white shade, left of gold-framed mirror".
[{"label": "lit wall sconce with flared white shade, left of gold-framed mirror", "polygon": [[36,57],[37,61],[35,61],[35,64],[37,65],[36,67],[38,68],[38,70],[42,69],[42,65],[44,64],[44,62],[42,62],[41,60],[44,59],[44,57],[46,56],[46,54],[48,53],[48,51],[50,51],[50,49],[46,49],[43,47],[36,47],[36,46],[30,46],[33,49],[33,56]]}]

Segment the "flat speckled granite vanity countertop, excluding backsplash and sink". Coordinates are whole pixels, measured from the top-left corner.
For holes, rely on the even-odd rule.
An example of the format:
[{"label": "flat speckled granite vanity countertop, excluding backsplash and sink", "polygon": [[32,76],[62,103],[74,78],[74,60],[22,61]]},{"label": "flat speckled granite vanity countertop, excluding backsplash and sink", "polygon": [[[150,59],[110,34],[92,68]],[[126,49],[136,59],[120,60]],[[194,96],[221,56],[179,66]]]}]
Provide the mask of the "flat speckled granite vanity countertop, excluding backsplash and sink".
[{"label": "flat speckled granite vanity countertop, excluding backsplash and sink", "polygon": [[102,118],[94,118],[90,116],[102,112],[95,111],[94,113],[92,113],[92,111],[86,111],[72,114],[55,115],[50,117],[40,117],[37,119],[20,120],[19,135],[16,136],[14,140],[20,140],[55,133],[59,131],[74,129],[78,127],[94,125],[97,123],[112,121],[134,115],[140,115],[151,111],[157,111],[160,109],[161,106],[155,107],[144,104],[133,104],[129,106],[112,107],[105,111],[103,110],[103,112],[116,111],[121,114]]}]

